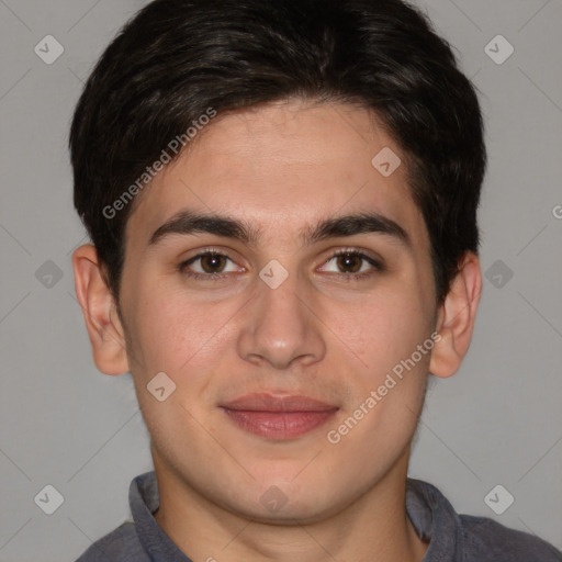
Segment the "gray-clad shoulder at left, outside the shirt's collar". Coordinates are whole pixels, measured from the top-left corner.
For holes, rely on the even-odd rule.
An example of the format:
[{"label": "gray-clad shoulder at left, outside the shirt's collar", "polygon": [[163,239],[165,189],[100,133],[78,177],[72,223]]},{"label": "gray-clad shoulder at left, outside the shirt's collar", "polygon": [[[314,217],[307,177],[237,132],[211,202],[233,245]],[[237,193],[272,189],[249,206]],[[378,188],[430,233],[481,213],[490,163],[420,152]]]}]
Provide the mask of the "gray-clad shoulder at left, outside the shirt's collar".
[{"label": "gray-clad shoulder at left, outside the shirt's collar", "polygon": [[97,540],[76,562],[149,562],[135,525],[126,521]]}]

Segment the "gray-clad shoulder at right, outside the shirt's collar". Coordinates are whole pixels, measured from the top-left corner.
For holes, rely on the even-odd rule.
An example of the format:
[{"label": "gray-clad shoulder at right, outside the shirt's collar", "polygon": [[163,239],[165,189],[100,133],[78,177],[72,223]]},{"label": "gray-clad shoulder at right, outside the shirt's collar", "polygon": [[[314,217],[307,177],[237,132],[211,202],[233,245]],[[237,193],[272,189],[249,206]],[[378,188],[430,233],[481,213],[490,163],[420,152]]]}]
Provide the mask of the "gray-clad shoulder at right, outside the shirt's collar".
[{"label": "gray-clad shoulder at right, outside the shirt's collar", "polygon": [[562,552],[539,537],[510,529],[487,517],[459,517],[471,561],[562,562]]}]

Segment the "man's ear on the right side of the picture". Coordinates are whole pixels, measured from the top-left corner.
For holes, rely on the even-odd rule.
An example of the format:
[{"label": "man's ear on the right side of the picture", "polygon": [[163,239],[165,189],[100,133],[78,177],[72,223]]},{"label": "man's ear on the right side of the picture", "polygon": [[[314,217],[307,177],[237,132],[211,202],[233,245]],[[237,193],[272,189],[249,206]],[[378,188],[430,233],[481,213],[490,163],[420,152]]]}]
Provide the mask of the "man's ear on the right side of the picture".
[{"label": "man's ear on the right side of the picture", "polygon": [[481,293],[480,260],[469,251],[438,310],[436,330],[441,337],[435,341],[429,363],[429,372],[436,376],[445,379],[459,370],[472,339]]}]

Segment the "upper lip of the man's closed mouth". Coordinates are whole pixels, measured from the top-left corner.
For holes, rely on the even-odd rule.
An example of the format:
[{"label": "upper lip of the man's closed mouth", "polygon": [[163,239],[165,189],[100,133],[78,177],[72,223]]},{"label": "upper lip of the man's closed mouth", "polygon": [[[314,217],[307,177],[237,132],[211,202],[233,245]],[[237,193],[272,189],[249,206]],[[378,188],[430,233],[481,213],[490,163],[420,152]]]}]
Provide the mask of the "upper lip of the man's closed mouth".
[{"label": "upper lip of the man's closed mouth", "polygon": [[247,412],[329,412],[338,409],[334,404],[301,394],[276,395],[268,393],[247,394],[225,402],[221,406],[226,409]]}]

